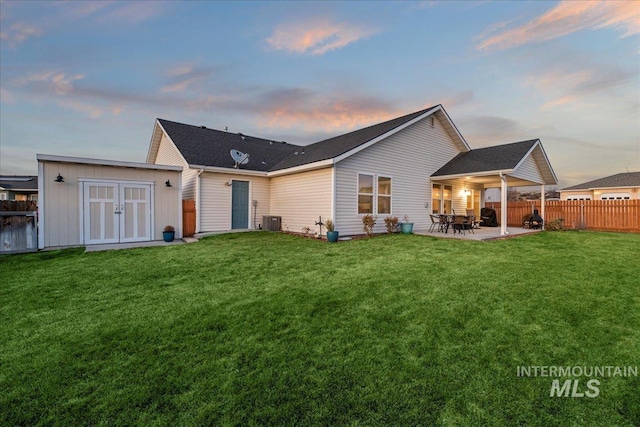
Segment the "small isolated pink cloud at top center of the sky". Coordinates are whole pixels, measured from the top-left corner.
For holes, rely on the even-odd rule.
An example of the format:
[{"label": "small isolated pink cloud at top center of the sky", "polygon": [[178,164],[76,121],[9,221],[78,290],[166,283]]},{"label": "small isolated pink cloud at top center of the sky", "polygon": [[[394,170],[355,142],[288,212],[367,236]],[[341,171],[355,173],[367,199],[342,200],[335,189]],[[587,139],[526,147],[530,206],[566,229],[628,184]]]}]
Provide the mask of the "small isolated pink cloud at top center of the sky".
[{"label": "small isolated pink cloud at top center of the sky", "polygon": [[373,29],[327,19],[279,25],[266,41],[276,50],[323,55],[374,34]]}]

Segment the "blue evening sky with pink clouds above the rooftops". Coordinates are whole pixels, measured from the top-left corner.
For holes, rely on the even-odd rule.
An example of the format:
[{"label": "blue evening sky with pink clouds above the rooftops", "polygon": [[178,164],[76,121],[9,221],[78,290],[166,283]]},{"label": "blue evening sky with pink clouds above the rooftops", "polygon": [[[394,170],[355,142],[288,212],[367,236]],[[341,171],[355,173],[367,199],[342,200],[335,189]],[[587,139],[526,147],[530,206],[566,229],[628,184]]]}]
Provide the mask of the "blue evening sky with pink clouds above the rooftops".
[{"label": "blue evening sky with pink clouds above the rooftops", "polygon": [[640,3],[0,2],[0,173],[144,162],[156,117],[306,144],[443,104],[560,187],[640,170]]}]

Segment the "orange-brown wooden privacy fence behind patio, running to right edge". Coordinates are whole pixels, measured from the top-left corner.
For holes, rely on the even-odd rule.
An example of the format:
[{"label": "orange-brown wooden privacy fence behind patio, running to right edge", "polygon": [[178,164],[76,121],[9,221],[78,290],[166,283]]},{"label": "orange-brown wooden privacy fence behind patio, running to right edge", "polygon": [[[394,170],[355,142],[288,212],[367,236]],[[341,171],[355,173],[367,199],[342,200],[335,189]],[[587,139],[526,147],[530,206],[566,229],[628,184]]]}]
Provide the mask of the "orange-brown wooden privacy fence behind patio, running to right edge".
[{"label": "orange-brown wooden privacy fence behind patio, running to right edge", "polygon": [[[487,203],[500,220],[500,203]],[[507,225],[522,226],[523,218],[540,208],[540,200],[507,203]],[[563,218],[565,228],[640,232],[640,200],[551,200],[545,222]]]}]

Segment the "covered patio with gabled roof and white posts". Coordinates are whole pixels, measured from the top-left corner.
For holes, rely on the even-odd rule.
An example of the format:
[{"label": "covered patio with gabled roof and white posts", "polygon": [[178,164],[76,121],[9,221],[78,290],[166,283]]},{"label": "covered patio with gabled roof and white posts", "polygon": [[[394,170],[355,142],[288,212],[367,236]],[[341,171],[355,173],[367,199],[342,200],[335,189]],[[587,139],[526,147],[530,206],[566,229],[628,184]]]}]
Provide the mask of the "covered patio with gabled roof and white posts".
[{"label": "covered patio with gabled roof and white posts", "polygon": [[[448,184],[454,189],[462,189],[463,194],[480,189],[482,190],[482,207],[484,207],[484,190],[500,188],[501,208],[500,212],[496,212],[499,227],[482,227],[481,230],[486,228],[491,232],[478,233],[478,236],[486,236],[485,238],[488,239],[537,231],[507,227],[509,187],[540,186],[542,197],[540,215],[544,218],[545,186],[557,185],[558,180],[540,140],[535,139],[460,153],[431,175],[431,182],[435,185]],[[458,205],[458,209],[460,207]],[[466,207],[469,207],[468,203]],[[476,212],[477,220],[480,220],[479,216],[479,212]],[[446,237],[445,233],[436,231],[436,234]],[[474,233],[469,234],[473,238]],[[485,238],[475,240],[485,240]]]}]

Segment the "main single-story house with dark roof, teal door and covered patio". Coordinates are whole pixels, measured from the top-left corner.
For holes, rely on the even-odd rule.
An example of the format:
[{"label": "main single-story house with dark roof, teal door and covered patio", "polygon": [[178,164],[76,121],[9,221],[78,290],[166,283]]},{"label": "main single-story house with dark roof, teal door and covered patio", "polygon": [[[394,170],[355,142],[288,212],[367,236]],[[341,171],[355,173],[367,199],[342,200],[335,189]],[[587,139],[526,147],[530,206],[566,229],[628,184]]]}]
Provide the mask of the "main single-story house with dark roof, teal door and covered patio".
[{"label": "main single-story house with dark roof, teal door and covered patio", "polygon": [[[234,161],[231,150],[248,154]],[[196,232],[260,228],[280,216],[300,232],[332,218],[341,235],[362,234],[362,217],[478,212],[500,187],[506,234],[508,186],[557,184],[539,140],[472,150],[441,105],[307,146],[156,120],[147,162],[183,168],[183,198],[196,201]]]}]

